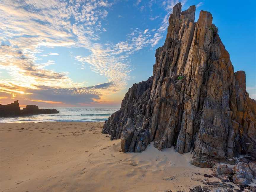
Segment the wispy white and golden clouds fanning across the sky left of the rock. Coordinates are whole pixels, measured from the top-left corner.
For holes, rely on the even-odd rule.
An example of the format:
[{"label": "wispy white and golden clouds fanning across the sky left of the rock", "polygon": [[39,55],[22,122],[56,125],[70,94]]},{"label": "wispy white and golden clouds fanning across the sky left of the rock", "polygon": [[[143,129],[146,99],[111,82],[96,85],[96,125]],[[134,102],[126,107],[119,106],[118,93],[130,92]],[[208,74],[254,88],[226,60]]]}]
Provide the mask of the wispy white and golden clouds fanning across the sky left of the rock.
[{"label": "wispy white and golden clouds fanning across the sky left of the rock", "polygon": [[[184,4],[185,0],[182,2]],[[153,3],[156,1],[151,0],[149,6]],[[107,0],[2,0],[0,69],[7,71],[11,78],[0,79],[1,99],[19,97],[24,101],[74,104],[70,103],[73,99],[76,103],[95,103],[109,93],[124,89],[132,70],[127,58],[143,47],[158,44],[176,3],[164,1],[167,14],[159,28],[131,29],[123,41],[100,44],[100,36],[106,31],[104,22],[108,10],[113,6]],[[135,2],[144,9],[141,4],[141,0]],[[158,16],[150,20],[156,18]],[[46,47],[86,48],[88,56],[75,53],[71,56],[81,63],[81,69],[89,65],[91,71],[106,77],[107,82],[84,87],[84,82],[73,81],[67,72],[49,70],[46,67],[54,65],[55,61],[40,63],[36,55],[47,58],[59,53],[43,53]]]}]

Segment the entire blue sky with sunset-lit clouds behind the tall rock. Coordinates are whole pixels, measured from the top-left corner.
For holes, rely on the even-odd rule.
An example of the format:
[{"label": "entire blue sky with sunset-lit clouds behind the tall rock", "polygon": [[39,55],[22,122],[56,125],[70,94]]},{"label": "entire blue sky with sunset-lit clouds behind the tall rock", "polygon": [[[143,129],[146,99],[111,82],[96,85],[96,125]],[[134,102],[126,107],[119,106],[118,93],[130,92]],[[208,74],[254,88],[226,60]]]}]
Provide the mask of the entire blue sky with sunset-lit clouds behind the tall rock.
[{"label": "entire blue sky with sunset-lit clouds behind the tall rock", "polygon": [[172,7],[212,13],[256,99],[255,1],[0,0],[0,104],[120,107],[152,75]]}]

